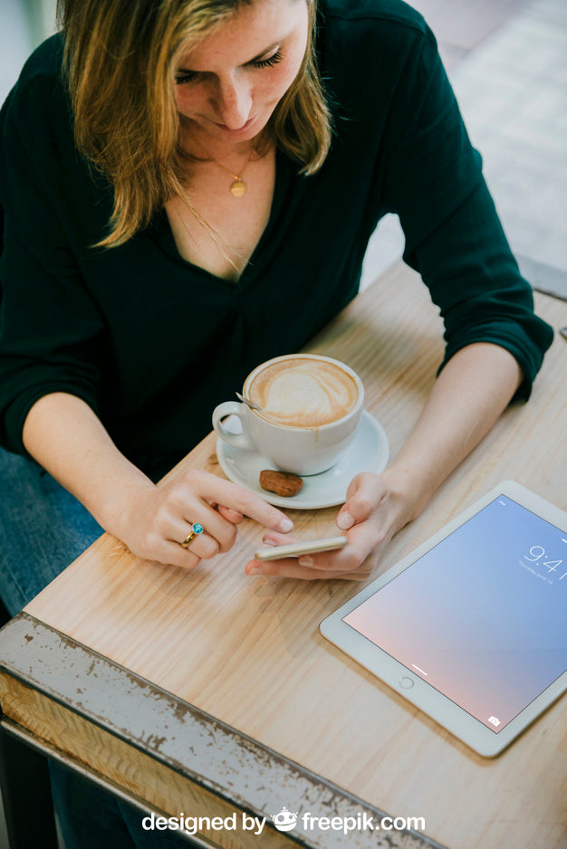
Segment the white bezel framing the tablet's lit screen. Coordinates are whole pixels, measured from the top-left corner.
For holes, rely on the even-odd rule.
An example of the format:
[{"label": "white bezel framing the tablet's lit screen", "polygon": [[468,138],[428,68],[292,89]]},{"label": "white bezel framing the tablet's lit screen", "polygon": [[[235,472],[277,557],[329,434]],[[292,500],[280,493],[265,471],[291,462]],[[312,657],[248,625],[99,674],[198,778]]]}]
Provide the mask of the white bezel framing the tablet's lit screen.
[{"label": "white bezel framing the tablet's lit screen", "polygon": [[[410,701],[419,710],[427,713],[431,719],[436,720],[458,739],[462,740],[471,749],[474,749],[484,758],[495,758],[510,743],[518,737],[528,725],[548,708],[553,701],[559,699],[567,689],[567,672],[552,682],[539,696],[537,696],[524,711],[519,713],[513,720],[498,733],[488,729],[482,722],[476,720],[464,708],[459,707],[443,693],[437,691],[431,684],[424,681],[403,663],[395,660],[384,650],[370,642],[370,640],[355,631],[351,625],[342,621],[343,617],[350,614],[352,610],[360,606],[370,596],[384,587],[397,577],[400,572],[411,566],[419,558],[423,557],[429,549],[434,548],[443,539],[446,539],[466,521],[472,519],[479,510],[494,501],[499,495],[504,495],[516,501],[527,510],[532,510],[541,519],[550,522],[555,527],[567,533],[567,513],[560,508],[545,501],[541,496],[526,489],[520,483],[504,481],[495,486],[489,492],[475,501],[469,508],[459,513],[455,519],[450,520],[432,537],[429,537],[417,549],[411,551],[407,557],[402,558],[384,575],[372,581],[350,601],[342,605],[332,615],[327,616],[319,626],[321,634],[332,644],[343,652],[349,654],[355,661],[360,663],[370,673],[375,674],[380,680],[389,685],[393,690]],[[400,681],[411,679],[413,682],[410,689],[405,689]]]}]

